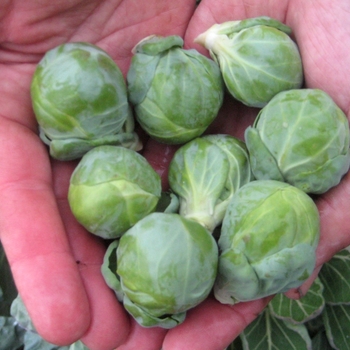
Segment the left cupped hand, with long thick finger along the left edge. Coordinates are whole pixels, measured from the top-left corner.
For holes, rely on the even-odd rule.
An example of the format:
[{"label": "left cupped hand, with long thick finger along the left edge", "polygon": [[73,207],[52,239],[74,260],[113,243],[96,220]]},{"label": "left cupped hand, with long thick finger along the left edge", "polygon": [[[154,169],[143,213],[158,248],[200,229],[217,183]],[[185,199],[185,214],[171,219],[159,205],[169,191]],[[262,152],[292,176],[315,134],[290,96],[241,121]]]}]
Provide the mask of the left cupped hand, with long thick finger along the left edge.
[{"label": "left cupped hand, with long thick finger along the left edge", "polygon": [[89,349],[109,350],[138,339],[153,349],[164,331],[130,322],[101,276],[104,243],[72,217],[67,189],[76,162],[50,160],[38,138],[29,94],[36,64],[54,46],[87,41],[125,75],[139,40],[183,36],[194,7],[188,0],[0,5],[0,238],[34,325],[49,342],[81,339]]}]

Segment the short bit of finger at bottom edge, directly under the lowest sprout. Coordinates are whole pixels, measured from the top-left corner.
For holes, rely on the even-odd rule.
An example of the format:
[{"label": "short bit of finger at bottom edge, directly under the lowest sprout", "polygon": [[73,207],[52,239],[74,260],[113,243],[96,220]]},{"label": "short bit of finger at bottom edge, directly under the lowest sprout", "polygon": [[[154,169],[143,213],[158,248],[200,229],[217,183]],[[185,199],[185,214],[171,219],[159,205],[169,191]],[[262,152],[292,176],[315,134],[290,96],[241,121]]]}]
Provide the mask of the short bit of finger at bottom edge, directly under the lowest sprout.
[{"label": "short bit of finger at bottom edge, directly under the lowest sprout", "polygon": [[144,328],[131,321],[131,332],[126,342],[119,346],[116,350],[159,350],[162,348],[163,339],[167,330],[154,327]]}]

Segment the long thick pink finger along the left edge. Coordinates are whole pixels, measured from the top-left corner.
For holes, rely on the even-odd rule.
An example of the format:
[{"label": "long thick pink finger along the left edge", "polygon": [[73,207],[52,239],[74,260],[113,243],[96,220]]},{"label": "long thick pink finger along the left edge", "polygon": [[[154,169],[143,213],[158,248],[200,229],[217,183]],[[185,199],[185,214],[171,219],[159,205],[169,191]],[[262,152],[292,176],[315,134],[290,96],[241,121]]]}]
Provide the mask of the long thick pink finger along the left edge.
[{"label": "long thick pink finger along the left edge", "polygon": [[90,311],[48,157],[26,127],[4,118],[0,130],[1,241],[37,331],[51,343],[70,344],[86,332]]}]

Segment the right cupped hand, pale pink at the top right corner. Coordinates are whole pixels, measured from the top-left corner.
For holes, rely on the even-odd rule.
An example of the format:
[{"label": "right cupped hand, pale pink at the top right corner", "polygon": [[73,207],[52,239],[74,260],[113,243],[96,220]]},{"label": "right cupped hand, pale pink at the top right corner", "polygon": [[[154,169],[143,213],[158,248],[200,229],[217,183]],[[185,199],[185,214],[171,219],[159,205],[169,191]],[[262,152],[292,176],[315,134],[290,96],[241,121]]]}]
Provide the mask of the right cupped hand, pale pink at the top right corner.
[{"label": "right cupped hand, pale pink at the top right corner", "polygon": [[[320,88],[332,96],[350,117],[349,71],[350,46],[349,13],[346,1],[337,4],[329,0],[302,1],[235,1],[202,0],[189,24],[185,36],[187,47],[203,54],[208,52],[193,44],[193,40],[214,23],[248,17],[270,16],[289,25],[301,51],[306,86]],[[242,106],[227,98],[218,119],[209,132],[230,133],[243,138],[257,110]],[[350,205],[350,174],[328,193],[315,199],[321,217],[321,239],[313,276],[300,288],[286,293],[291,298],[304,295],[317,276],[322,264],[350,244],[350,224],[347,219]],[[185,348],[222,350],[254,319],[268,300],[221,305],[209,299],[188,313],[185,322],[170,330],[164,340],[164,350]]]}]

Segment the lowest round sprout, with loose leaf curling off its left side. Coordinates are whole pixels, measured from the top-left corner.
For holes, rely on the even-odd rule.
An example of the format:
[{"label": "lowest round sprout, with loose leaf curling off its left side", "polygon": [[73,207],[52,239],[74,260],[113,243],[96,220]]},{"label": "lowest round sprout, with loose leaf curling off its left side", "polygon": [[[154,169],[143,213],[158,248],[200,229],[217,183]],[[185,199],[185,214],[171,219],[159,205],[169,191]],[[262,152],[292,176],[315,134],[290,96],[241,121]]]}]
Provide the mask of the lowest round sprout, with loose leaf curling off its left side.
[{"label": "lowest round sprout, with loose leaf curling off its left side", "polygon": [[202,225],[152,213],[110,245],[101,271],[140,325],[169,329],[209,295],[217,264],[216,241]]}]

